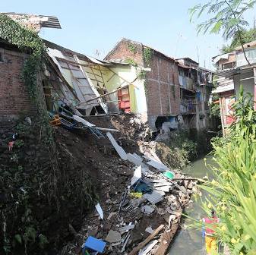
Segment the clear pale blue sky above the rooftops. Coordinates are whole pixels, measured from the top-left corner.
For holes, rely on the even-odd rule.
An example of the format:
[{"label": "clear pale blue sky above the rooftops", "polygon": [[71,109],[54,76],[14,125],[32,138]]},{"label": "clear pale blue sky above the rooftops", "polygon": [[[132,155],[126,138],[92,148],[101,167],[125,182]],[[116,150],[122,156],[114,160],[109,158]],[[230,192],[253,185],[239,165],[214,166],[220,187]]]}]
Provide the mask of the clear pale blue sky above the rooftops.
[{"label": "clear pale blue sky above the rooftops", "polygon": [[[225,41],[221,34],[197,36],[198,20],[190,23],[188,15],[188,8],[207,1],[8,0],[0,9],[57,16],[62,29],[43,28],[40,36],[85,55],[102,59],[125,37],[173,58],[199,59],[202,67],[212,69],[211,58],[220,54]],[[246,14],[251,24],[254,11]]]}]

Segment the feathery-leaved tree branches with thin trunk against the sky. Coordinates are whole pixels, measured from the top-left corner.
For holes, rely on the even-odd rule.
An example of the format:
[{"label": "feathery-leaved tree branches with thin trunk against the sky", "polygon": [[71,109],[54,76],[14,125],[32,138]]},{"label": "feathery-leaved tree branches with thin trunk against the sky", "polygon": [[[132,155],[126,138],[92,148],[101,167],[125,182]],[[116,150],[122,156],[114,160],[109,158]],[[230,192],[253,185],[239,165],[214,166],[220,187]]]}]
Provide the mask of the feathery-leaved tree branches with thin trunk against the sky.
[{"label": "feathery-leaved tree branches with thin trunk against the sky", "polygon": [[[248,26],[248,21],[244,19],[243,15],[246,11],[253,8],[255,3],[255,0],[213,0],[204,5],[195,5],[189,9],[189,13],[191,20],[195,14],[198,14],[198,18],[205,12],[210,16],[204,22],[198,24],[198,33],[207,33],[209,30],[210,33],[220,33],[220,31],[223,31],[224,39],[230,39],[237,34],[239,44],[242,46],[242,51],[245,55],[242,30],[245,30],[245,27]],[[246,55],[245,59],[248,65],[250,65]]]}]

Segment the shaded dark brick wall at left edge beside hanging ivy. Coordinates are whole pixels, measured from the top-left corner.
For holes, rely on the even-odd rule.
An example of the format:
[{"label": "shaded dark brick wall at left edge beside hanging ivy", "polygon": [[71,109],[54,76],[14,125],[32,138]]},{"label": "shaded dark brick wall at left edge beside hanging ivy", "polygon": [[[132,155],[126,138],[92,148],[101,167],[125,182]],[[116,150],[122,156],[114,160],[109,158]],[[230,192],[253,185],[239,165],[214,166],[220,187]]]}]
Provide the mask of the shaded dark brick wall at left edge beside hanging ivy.
[{"label": "shaded dark brick wall at left edge beside hanging ivy", "polygon": [[0,117],[36,112],[21,80],[26,55],[6,49],[0,49],[0,52],[3,58],[0,62]]}]

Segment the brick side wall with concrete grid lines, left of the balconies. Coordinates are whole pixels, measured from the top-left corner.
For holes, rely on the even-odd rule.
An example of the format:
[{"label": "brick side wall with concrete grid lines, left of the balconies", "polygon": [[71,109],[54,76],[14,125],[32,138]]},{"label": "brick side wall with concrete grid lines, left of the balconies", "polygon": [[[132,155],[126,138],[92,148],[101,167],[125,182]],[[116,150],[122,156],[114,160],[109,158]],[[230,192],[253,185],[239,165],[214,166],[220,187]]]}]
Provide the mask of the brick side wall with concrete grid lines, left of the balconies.
[{"label": "brick side wall with concrete grid lines, left of the balconies", "polygon": [[179,115],[180,91],[178,65],[169,58],[153,55],[147,72],[147,114]]}]

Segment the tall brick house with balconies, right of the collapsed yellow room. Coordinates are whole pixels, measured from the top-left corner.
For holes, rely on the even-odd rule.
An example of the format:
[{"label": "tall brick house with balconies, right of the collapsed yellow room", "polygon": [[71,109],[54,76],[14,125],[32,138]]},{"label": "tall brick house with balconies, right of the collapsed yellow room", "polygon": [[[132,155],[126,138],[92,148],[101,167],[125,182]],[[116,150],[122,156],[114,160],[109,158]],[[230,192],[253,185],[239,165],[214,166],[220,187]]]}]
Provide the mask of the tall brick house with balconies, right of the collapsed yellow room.
[{"label": "tall brick house with balconies, right of the collapsed yellow room", "polygon": [[131,63],[144,70],[145,103],[140,113],[154,131],[210,125],[208,99],[213,72],[190,58],[171,58],[141,42],[122,39],[106,55],[107,61]]}]

